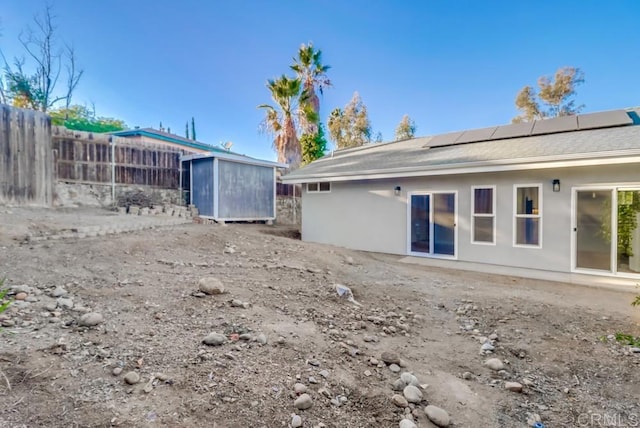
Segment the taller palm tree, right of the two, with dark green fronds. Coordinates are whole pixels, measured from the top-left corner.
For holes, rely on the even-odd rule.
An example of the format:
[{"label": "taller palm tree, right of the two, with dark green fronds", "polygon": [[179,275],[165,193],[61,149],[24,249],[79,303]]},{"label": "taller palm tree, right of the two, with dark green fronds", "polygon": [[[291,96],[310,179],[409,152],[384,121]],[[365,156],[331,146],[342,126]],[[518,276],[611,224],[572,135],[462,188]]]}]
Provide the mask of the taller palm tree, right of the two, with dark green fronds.
[{"label": "taller palm tree, right of the two, with dark green fronds", "polygon": [[[315,134],[318,132],[320,118],[320,99],[316,91],[322,95],[324,88],[331,86],[331,81],[326,74],[331,66],[322,65],[322,51],[314,49],[312,43],[308,45],[303,43],[298,50],[298,58],[294,58],[293,61],[291,69],[296,72],[298,79],[302,82],[300,104],[307,106],[303,110],[310,110],[314,113],[311,116],[308,112],[303,114],[300,118],[300,125],[303,132]],[[309,120],[314,117],[315,120]]]}]

